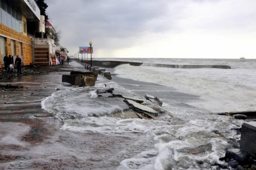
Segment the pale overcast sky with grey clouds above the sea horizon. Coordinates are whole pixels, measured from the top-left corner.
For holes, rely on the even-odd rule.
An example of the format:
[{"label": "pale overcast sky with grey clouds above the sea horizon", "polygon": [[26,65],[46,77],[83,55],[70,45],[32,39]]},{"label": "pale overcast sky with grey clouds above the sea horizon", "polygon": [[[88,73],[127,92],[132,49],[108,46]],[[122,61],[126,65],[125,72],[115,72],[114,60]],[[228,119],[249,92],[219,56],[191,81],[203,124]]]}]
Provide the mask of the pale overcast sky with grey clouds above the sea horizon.
[{"label": "pale overcast sky with grey clouds above the sea horizon", "polygon": [[256,58],[256,0],[45,0],[72,56]]}]

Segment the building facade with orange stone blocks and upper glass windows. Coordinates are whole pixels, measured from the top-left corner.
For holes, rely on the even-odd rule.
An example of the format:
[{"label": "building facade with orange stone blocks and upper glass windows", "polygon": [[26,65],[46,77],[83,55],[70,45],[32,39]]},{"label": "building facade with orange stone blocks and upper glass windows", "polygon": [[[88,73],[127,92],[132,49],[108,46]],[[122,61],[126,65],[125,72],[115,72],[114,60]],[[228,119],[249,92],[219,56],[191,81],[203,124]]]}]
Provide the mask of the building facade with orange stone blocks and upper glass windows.
[{"label": "building facade with orange stone blocks and upper glass windows", "polygon": [[14,60],[19,55],[23,65],[33,63],[30,32],[40,32],[40,20],[34,0],[0,0],[0,64],[6,54]]}]

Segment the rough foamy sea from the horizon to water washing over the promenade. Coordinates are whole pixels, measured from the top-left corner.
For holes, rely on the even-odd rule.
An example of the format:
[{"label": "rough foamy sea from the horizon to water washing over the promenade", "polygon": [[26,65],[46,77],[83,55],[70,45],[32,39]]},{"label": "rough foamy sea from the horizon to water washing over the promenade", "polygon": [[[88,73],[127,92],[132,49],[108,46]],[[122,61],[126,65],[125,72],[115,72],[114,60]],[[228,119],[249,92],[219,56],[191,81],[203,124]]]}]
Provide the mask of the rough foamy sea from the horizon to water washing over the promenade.
[{"label": "rough foamy sea from the horizon to water washing over the promenade", "polygon": [[[141,66],[123,64],[106,68],[112,74],[111,85],[142,98],[145,94],[157,96],[167,112],[158,120],[129,118],[123,112],[113,116],[118,106],[92,102],[97,98],[96,89],[105,87],[99,82],[94,87],[60,90],[42,100],[42,108],[63,122],[61,130],[107,138],[108,142],[101,144],[97,138],[90,137],[86,140],[88,147],[70,153],[65,150],[66,154],[72,152],[86,159],[83,149],[97,145],[102,152],[90,152],[97,162],[92,169],[214,169],[212,165],[221,163],[219,158],[225,155],[226,148],[232,148],[240,140],[234,129],[245,122],[216,113],[256,110],[255,59],[99,60],[143,62]],[[166,68],[158,64],[180,67]],[[182,65],[228,65],[231,69],[187,69]],[[173,120],[171,115],[180,120]],[[79,145],[70,143],[73,144]],[[109,146],[112,147],[108,151]]]}]

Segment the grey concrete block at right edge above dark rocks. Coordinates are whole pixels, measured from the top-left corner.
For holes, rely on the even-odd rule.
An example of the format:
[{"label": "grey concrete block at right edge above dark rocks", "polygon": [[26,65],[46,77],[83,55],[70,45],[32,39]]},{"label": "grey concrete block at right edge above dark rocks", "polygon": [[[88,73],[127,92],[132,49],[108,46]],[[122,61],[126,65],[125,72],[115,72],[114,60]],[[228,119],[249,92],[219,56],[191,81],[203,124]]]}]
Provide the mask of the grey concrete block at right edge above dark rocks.
[{"label": "grey concrete block at right edge above dark rocks", "polygon": [[242,124],[240,149],[256,155],[256,122]]}]

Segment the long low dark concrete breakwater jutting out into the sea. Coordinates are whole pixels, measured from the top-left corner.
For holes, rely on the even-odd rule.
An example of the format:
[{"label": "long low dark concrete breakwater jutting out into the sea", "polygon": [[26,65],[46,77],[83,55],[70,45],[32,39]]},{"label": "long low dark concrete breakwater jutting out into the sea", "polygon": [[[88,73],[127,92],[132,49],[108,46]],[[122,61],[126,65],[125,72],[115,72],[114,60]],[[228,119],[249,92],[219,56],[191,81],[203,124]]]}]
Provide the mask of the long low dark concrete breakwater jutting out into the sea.
[{"label": "long low dark concrete breakwater jutting out into the sea", "polygon": [[[87,61],[84,61],[86,63]],[[87,64],[90,64],[88,61]],[[166,67],[166,68],[222,68],[231,69],[230,66],[226,65],[177,65],[177,64],[154,64],[154,63],[143,63],[143,62],[124,62],[124,61],[105,61],[105,60],[93,60],[92,65],[98,67],[114,68],[121,64],[130,64],[131,66],[153,66],[153,67]]]}]

